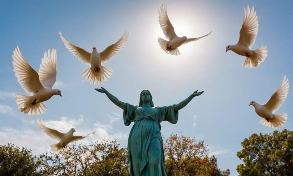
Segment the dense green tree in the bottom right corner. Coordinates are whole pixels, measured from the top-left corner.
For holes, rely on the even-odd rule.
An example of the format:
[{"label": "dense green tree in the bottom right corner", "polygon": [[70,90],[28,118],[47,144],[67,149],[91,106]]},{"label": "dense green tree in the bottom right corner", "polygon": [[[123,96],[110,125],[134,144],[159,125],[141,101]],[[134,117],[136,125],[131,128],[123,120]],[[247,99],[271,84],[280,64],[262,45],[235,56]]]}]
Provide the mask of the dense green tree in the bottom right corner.
[{"label": "dense green tree in the bottom right corner", "polygon": [[293,175],[293,131],[254,133],[241,145],[237,156],[244,164],[237,166],[239,175]]}]

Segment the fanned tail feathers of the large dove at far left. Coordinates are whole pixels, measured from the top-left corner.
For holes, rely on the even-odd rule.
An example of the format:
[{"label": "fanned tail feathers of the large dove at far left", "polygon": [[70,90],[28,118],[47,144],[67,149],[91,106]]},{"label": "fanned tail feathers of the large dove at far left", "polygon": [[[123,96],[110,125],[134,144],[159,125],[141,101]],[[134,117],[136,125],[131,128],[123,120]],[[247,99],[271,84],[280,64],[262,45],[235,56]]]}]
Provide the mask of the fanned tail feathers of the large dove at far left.
[{"label": "fanned tail feathers of the large dove at far left", "polygon": [[44,114],[47,111],[47,107],[43,103],[32,105],[30,103],[30,99],[30,96],[15,94],[15,102],[17,108],[20,109],[21,112],[24,112],[29,116],[38,116]]}]

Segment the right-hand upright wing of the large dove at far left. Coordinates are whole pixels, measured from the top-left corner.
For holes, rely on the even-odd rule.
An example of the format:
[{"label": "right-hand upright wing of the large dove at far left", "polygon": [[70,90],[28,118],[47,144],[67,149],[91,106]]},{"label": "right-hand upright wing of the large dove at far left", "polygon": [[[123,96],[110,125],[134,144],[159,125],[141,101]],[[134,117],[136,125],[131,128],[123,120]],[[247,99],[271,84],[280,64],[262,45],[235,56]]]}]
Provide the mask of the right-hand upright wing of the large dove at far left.
[{"label": "right-hand upright wing of the large dove at far left", "polygon": [[56,82],[57,75],[57,50],[50,49],[44,53],[44,57],[42,58],[42,64],[40,65],[39,77],[40,82],[46,88],[51,88]]}]

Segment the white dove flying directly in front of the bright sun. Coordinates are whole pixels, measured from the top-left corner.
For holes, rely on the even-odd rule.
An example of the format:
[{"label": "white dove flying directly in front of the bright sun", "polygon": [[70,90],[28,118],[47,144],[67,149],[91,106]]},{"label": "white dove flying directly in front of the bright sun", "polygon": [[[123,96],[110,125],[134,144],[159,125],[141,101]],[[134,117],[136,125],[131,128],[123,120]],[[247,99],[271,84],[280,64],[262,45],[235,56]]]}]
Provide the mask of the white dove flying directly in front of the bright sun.
[{"label": "white dove flying directly in front of the bright sun", "polygon": [[165,7],[163,7],[163,5],[161,6],[161,11],[159,10],[159,23],[161,28],[163,29],[163,33],[165,34],[166,38],[169,40],[164,40],[162,38],[158,38],[158,42],[161,46],[161,48],[168,54],[171,55],[180,55],[180,52],[178,50],[178,47],[189,43],[189,42],[193,42],[196,41],[200,38],[206,37],[208,36],[211,32],[209,32],[207,35],[201,36],[201,37],[197,37],[197,38],[187,38],[186,36],[183,37],[178,37],[174,31],[174,28],[168,18],[167,15],[167,5],[165,5]]}]

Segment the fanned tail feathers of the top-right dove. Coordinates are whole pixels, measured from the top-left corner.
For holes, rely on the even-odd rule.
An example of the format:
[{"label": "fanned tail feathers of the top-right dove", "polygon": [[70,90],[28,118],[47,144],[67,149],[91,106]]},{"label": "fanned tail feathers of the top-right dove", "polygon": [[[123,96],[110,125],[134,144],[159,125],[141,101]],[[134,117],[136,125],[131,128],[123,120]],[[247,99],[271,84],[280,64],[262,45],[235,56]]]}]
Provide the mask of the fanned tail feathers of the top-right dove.
[{"label": "fanned tail feathers of the top-right dove", "polygon": [[261,62],[265,60],[265,57],[268,56],[267,45],[262,46],[256,50],[252,50],[252,55],[250,57],[245,57],[243,66],[248,68],[256,68],[260,65]]}]

